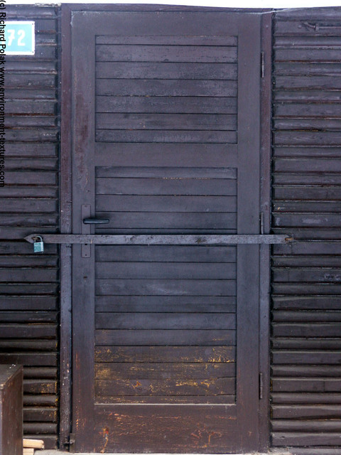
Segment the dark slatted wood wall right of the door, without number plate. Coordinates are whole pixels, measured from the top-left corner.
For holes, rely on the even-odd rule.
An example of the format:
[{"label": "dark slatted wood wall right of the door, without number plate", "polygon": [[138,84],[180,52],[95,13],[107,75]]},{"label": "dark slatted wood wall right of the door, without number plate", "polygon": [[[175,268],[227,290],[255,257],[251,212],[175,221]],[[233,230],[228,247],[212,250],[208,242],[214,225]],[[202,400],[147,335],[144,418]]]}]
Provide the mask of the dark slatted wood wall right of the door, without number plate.
[{"label": "dark slatted wood wall right of the door, without number plate", "polygon": [[299,241],[273,247],[271,434],[296,455],[340,451],[339,18],[274,23],[273,229]]}]

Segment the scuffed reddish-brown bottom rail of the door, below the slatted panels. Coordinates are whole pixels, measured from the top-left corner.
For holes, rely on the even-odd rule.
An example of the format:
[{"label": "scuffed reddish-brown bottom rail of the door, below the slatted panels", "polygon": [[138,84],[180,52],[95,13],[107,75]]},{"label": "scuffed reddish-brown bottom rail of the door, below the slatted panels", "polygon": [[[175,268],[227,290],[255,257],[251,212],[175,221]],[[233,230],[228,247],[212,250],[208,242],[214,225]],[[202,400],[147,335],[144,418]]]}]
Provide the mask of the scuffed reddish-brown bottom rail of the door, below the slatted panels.
[{"label": "scuffed reddish-brown bottom rail of the door, below the slatted panels", "polygon": [[[153,439],[151,439],[153,434]],[[236,407],[178,405],[95,405],[95,444],[104,451],[200,451],[240,449]]]}]

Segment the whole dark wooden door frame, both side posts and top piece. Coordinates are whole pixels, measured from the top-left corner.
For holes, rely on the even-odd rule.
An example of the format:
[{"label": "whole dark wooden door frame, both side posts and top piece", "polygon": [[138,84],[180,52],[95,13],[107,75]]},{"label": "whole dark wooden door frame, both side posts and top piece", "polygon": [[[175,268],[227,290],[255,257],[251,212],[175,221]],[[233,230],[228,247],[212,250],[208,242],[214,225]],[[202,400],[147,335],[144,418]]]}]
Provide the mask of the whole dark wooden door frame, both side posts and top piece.
[{"label": "whole dark wooden door frame, both side posts and top piece", "polygon": [[[60,233],[72,233],[72,11],[217,11],[242,13],[240,9],[192,6],[63,4],[61,7],[61,137],[60,137]],[[244,10],[245,13],[249,12]],[[261,144],[260,211],[264,234],[271,229],[271,60],[272,10],[261,14]],[[260,56],[261,58],[261,56]],[[260,245],[259,282],[259,451],[269,448],[270,392],[270,245]],[[72,256],[71,245],[60,246],[60,432],[59,447],[70,446],[72,434]],[[72,449],[72,447],[70,447]]]}]

